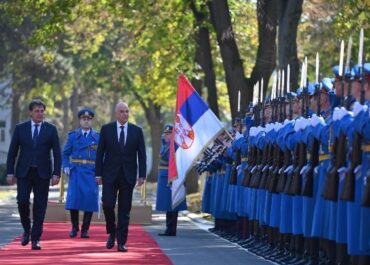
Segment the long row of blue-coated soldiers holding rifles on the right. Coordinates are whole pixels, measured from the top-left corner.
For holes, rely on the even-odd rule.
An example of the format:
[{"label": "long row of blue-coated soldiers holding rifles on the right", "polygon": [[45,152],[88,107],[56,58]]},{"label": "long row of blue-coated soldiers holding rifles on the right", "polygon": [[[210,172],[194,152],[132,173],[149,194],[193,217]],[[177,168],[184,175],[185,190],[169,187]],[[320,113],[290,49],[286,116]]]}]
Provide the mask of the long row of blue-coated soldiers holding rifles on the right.
[{"label": "long row of blue-coated soldiers holding rifles on the right", "polygon": [[207,166],[211,231],[280,264],[370,264],[370,64],[341,67],[235,124]]}]

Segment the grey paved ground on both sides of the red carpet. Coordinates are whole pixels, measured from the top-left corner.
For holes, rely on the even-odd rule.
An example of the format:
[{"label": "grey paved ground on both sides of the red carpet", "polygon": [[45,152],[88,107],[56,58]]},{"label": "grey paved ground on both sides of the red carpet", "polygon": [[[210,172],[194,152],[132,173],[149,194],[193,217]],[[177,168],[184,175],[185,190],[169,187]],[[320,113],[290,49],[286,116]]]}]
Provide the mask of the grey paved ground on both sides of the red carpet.
[{"label": "grey paved ground on both sides of the red carpet", "polygon": [[[58,198],[56,189],[50,193],[51,199]],[[140,195],[136,191],[135,200]],[[153,203],[155,196],[148,194],[148,202]],[[207,231],[212,222],[199,218],[198,215],[184,212],[179,217],[178,235],[176,237],[160,237],[157,234],[165,227],[165,216],[153,214],[153,224],[145,229],[158,242],[164,253],[175,265],[195,264],[273,264],[261,259],[236,244],[230,243]],[[0,248],[22,233],[15,197],[0,201]]]}]

